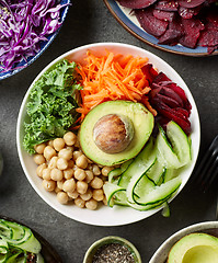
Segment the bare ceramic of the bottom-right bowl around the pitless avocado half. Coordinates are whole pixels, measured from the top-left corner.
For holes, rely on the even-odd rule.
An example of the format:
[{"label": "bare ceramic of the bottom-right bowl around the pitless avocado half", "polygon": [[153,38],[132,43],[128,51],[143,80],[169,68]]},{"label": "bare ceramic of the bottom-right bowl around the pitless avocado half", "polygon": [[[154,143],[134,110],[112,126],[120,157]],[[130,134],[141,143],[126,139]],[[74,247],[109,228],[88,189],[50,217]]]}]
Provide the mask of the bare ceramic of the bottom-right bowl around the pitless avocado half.
[{"label": "bare ceramic of the bottom-right bowl around the pitless avocado half", "polygon": [[218,237],[218,221],[198,222],[175,232],[161,244],[149,263],[165,263],[168,254],[173,244],[176,243],[181,238],[193,232],[205,232]]}]

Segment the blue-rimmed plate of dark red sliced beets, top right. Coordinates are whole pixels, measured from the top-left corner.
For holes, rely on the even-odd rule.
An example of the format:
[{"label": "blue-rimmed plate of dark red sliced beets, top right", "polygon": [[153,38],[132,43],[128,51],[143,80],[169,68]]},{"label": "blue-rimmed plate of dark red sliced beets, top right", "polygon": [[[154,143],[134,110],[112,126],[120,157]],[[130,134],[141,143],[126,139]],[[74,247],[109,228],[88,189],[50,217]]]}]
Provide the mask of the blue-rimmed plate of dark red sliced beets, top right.
[{"label": "blue-rimmed plate of dark red sliced beets, top right", "polygon": [[218,54],[218,0],[104,0],[133,35],[159,49],[186,55]]}]

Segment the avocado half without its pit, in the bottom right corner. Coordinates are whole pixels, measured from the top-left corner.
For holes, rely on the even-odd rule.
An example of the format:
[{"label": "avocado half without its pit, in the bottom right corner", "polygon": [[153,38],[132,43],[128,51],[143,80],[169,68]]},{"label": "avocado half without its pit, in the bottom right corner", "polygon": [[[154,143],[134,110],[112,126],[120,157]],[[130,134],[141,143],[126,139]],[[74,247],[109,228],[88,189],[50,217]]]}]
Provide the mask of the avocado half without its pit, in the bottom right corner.
[{"label": "avocado half without its pit, in the bottom right corner", "polygon": [[202,232],[187,235],[172,247],[168,263],[218,263],[218,238]]}]

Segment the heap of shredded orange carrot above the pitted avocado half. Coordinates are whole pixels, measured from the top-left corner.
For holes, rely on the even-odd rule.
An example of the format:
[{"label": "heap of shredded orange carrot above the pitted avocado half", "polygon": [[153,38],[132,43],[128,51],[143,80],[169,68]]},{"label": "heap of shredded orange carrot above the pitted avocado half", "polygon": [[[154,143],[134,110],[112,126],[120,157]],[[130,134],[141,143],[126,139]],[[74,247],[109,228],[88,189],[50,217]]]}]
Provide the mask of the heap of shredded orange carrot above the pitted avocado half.
[{"label": "heap of shredded orange carrot above the pitted avocado half", "polygon": [[131,55],[107,52],[105,56],[97,57],[88,52],[85,64],[76,68],[83,85],[83,90],[80,90],[82,103],[77,108],[81,113],[81,121],[94,106],[110,100],[141,102],[156,115],[147,96],[149,81],[141,70],[147,62],[148,58]]}]

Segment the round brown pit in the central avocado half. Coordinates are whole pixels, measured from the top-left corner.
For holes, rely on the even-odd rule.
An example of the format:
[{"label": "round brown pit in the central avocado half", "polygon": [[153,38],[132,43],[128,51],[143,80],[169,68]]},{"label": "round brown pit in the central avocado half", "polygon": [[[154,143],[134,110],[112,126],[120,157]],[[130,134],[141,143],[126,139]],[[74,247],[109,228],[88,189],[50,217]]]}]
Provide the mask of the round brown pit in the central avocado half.
[{"label": "round brown pit in the central avocado half", "polygon": [[131,121],[117,114],[107,114],[101,117],[93,128],[95,145],[106,153],[124,151],[134,137]]}]

